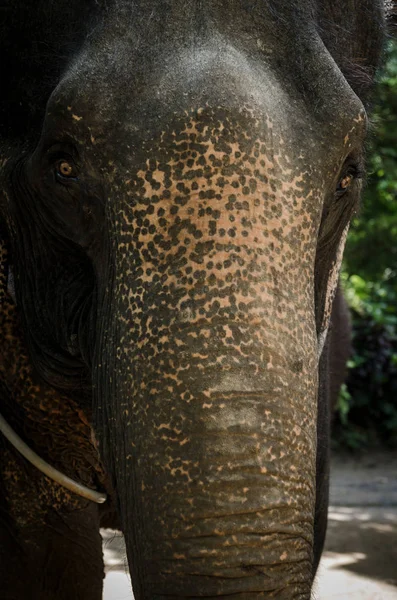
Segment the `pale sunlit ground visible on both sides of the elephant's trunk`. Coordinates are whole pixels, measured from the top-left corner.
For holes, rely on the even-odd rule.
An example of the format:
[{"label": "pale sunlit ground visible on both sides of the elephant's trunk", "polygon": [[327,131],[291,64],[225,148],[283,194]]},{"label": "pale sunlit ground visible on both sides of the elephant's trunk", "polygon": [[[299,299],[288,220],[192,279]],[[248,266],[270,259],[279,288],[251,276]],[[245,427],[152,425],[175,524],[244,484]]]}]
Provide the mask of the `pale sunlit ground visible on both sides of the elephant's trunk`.
[{"label": "pale sunlit ground visible on both sides of the elephant's trunk", "polygon": [[[313,600],[397,600],[397,452],[335,456]],[[120,534],[103,532],[104,600],[132,600]]]}]

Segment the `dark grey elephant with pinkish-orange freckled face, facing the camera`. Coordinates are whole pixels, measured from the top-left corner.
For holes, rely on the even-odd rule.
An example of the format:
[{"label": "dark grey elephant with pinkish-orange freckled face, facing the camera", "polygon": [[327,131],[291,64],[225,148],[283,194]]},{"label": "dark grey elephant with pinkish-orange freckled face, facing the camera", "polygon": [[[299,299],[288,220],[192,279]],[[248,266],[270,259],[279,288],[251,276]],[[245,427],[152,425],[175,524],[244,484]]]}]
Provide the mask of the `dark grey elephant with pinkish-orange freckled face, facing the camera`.
[{"label": "dark grey elephant with pinkish-orange freckled face, facing the camera", "polygon": [[339,270],[395,12],[2,7],[0,412],[107,501],[0,435],[1,598],[101,598],[106,524],[136,600],[310,598]]}]

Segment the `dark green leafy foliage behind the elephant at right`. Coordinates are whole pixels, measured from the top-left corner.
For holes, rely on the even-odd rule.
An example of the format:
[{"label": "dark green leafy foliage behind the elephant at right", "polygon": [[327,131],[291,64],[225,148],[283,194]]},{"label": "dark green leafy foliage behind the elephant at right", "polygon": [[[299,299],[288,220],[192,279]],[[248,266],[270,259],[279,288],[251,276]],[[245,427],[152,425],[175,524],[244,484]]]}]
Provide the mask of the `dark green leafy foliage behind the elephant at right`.
[{"label": "dark green leafy foliage behind the elephant at right", "polygon": [[353,356],[334,438],[351,449],[397,444],[397,43],[379,77],[368,185],[354,219],[342,283],[353,315]]}]

